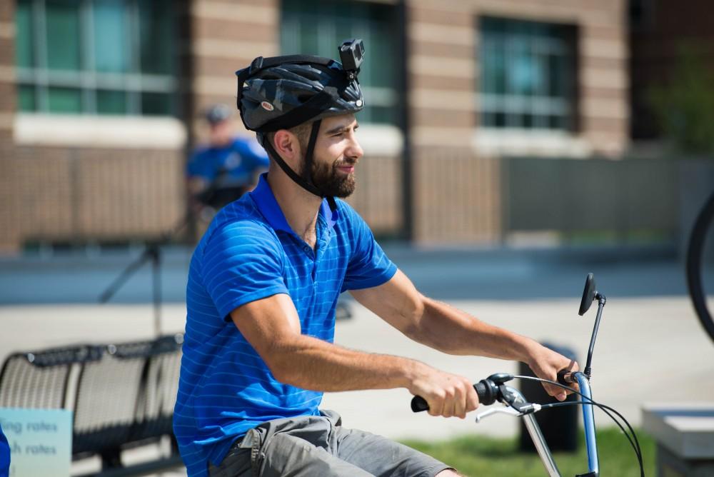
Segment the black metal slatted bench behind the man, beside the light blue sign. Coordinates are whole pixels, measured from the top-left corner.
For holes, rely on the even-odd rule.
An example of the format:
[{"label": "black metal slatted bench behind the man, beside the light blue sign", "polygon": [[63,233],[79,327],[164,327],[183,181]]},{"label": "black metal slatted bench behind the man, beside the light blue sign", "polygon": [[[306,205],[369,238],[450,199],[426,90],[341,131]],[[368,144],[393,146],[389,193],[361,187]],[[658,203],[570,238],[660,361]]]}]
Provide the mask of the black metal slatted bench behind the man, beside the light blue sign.
[{"label": "black metal slatted bench behind the man, beside the light blue sign", "polygon": [[[141,476],[182,465],[171,427],[183,336],[14,353],[0,372],[0,406],[74,410],[72,458],[100,456],[89,476]],[[126,449],[171,440],[169,455],[131,466]]]}]

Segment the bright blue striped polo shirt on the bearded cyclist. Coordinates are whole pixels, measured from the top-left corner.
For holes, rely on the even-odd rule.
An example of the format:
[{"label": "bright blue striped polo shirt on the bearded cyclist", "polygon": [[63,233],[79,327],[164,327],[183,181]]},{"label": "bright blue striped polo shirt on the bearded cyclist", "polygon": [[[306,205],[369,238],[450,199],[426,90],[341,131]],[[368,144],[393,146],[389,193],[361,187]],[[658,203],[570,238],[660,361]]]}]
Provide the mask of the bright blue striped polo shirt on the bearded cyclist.
[{"label": "bright blue striped polo shirt on the bearded cyclist", "polygon": [[250,301],[288,294],[302,333],[332,342],[342,291],[388,281],[389,261],[343,201],[323,201],[315,248],[288,225],[266,175],[218,212],[191,258],[174,433],[189,476],[206,476],[231,443],[271,419],[318,414],[322,393],[276,381],[231,321]]}]

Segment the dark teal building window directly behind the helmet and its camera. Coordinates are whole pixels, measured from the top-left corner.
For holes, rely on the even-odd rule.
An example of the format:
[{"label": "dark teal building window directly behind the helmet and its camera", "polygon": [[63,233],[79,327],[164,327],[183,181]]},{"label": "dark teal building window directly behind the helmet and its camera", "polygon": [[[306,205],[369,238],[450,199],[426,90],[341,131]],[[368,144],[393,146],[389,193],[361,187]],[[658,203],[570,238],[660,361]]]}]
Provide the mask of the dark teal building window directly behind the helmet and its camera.
[{"label": "dark teal building window directly behind the helmet and its camera", "polygon": [[401,41],[395,28],[396,7],[365,1],[283,0],[282,54],[313,54],[339,59],[342,41],[361,38],[365,61],[359,81],[365,99],[360,121],[396,124],[399,94],[397,69]]}]

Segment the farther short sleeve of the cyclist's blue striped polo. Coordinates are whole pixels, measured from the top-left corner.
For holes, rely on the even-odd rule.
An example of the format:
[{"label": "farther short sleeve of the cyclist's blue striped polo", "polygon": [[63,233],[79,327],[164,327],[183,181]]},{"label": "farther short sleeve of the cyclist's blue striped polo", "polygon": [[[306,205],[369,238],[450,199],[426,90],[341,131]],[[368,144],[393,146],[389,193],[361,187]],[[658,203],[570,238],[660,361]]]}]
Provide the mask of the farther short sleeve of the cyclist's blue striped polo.
[{"label": "farther short sleeve of the cyclist's blue striped polo", "polygon": [[361,216],[350,206],[341,204],[340,213],[344,215],[343,224],[348,227],[351,241],[351,254],[342,291],[386,283],[396,273],[396,265],[386,256]]}]

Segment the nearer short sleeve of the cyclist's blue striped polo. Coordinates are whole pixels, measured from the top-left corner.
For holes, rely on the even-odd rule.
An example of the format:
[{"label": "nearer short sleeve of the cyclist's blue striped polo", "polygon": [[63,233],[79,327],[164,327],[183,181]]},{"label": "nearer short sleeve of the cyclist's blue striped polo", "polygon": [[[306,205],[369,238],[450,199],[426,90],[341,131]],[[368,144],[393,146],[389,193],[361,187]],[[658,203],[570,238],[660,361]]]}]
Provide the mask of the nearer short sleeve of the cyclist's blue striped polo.
[{"label": "nearer short sleeve of the cyclist's blue striped polo", "polygon": [[201,276],[218,312],[288,293],[283,280],[283,251],[260,224],[243,221],[216,230],[203,250]]}]

